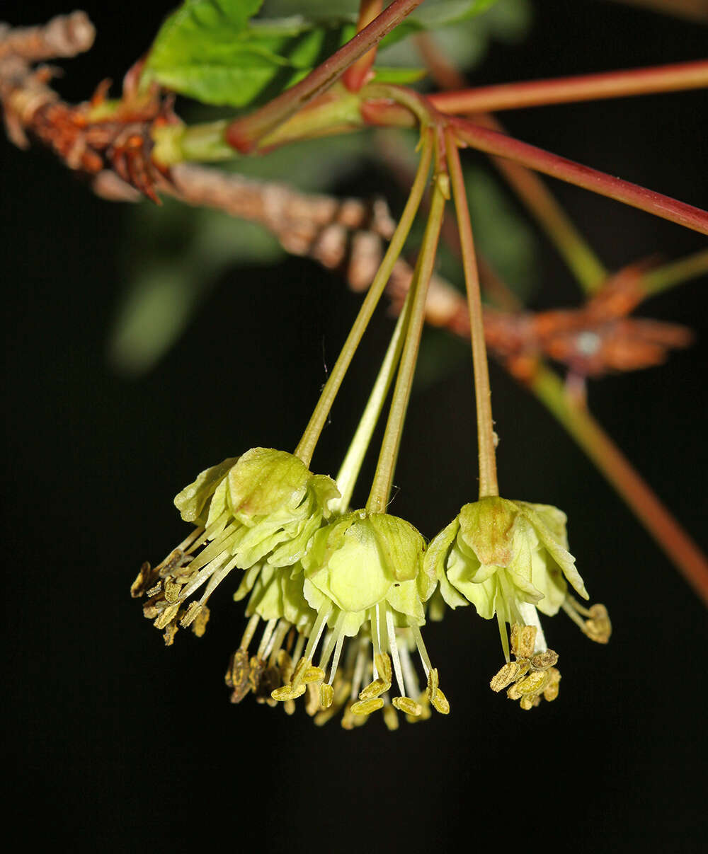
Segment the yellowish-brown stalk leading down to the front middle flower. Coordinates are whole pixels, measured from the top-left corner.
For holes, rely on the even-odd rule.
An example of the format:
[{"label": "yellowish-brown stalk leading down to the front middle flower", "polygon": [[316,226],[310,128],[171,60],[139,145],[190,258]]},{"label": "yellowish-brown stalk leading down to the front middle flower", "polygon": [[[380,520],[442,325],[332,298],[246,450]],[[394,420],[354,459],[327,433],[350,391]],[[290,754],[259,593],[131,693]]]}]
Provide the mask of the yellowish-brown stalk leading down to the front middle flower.
[{"label": "yellowish-brown stalk leading down to the front middle flower", "polygon": [[[430,136],[433,131],[430,132]],[[439,160],[439,157],[438,157]],[[430,214],[425,226],[423,244],[418,254],[415,272],[413,273],[413,302],[411,305],[411,319],[406,331],[406,342],[401,354],[401,366],[395,381],[395,389],[389,419],[386,422],[386,431],[383,434],[381,451],[378,455],[376,473],[372,483],[372,491],[366,502],[369,512],[383,513],[389,503],[391,484],[393,483],[398,449],[401,444],[403,422],[406,418],[408,401],[413,387],[413,375],[415,374],[416,361],[418,360],[418,348],[420,336],[423,332],[425,320],[425,298],[428,295],[428,285],[433,272],[433,264],[436,259],[437,243],[442,228],[442,215],[444,213],[445,201],[449,197],[449,178],[442,169],[444,165],[436,163],[436,176],[434,178],[432,199],[430,201]]]}]

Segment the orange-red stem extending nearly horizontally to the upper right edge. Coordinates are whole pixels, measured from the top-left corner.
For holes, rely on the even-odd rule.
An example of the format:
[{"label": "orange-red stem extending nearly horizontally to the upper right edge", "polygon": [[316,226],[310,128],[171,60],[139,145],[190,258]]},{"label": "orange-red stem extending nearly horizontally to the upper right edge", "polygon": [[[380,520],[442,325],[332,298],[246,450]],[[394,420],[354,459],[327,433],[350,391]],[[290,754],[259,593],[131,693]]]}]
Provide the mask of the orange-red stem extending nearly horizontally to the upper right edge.
[{"label": "orange-red stem extending nearly horizontally to the upper right edge", "polygon": [[502,109],[701,89],[705,86],[708,86],[708,60],[699,60],[439,92],[430,95],[429,101],[442,113],[488,113]]}]

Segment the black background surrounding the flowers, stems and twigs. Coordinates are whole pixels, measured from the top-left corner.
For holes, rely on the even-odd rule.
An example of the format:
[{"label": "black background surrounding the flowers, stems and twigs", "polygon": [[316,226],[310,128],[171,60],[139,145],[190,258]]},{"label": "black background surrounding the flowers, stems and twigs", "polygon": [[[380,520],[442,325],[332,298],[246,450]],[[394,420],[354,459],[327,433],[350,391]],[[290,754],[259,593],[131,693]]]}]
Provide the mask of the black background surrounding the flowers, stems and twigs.
[{"label": "black background surrounding the flowers, stems and twigs", "polygon": [[[171,3],[84,6],[98,38],[66,66],[70,100],[120,79]],[[69,9],[10,2],[2,16],[31,23]],[[476,79],[697,59],[706,33],[614,3],[538,3],[527,42],[494,49]],[[705,208],[706,106],[693,92],[526,110],[506,123]],[[496,367],[503,491],[568,512],[572,550],[614,625],[601,647],[565,617],[547,621],[564,677],[557,702],[527,714],[489,691],[499,640],[471,609],[426,631],[453,713],[395,734],[377,720],[348,733],[336,722],[313,728],[301,710],[288,718],[250,699],[230,705],[223,672],[243,618],[227,591],[214,597],[201,640],[180,633],[163,648],[128,587],[143,559],[161,559],[184,535],[173,495],[248,447],[294,447],[324,381],[323,351],[331,364],[359,300],[306,260],[239,272],[154,371],[121,378],[105,349],[126,208],[91,196],[37,150],[3,140],[2,158],[4,767],[27,840],[135,852],[224,838],[264,851],[447,850],[455,840],[700,850],[704,607],[570,438]],[[383,190],[400,204],[373,168],[336,189]],[[705,237],[648,214],[553,190],[608,266],[705,247]],[[540,263],[535,305],[573,304],[552,249]],[[640,311],[691,325],[695,347],[590,389],[600,421],[704,548],[706,286],[692,282]],[[389,330],[382,313],[316,470],[336,469]],[[429,537],[475,492],[470,373],[459,363],[411,404],[393,509]]]}]

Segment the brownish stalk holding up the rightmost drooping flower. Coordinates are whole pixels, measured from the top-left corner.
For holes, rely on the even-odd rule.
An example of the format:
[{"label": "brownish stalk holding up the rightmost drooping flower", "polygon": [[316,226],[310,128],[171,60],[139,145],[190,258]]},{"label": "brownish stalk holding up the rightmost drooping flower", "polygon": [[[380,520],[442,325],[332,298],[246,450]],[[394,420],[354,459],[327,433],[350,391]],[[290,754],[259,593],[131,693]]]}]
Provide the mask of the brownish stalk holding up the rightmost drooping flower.
[{"label": "brownish stalk holding up the rightmost drooping flower", "polygon": [[465,176],[459,162],[459,151],[453,132],[445,133],[445,146],[450,170],[450,184],[453,190],[455,213],[459,230],[459,244],[462,249],[462,266],[465,270],[467,307],[470,313],[470,331],[472,338],[472,364],[475,375],[475,400],[477,401],[477,448],[479,452],[479,497],[499,494],[496,477],[496,455],[494,453],[494,422],[492,420],[492,392],[489,388],[489,366],[487,364],[487,346],[484,342],[482,318],[482,297],[479,290],[477,260],[475,259],[474,239],[470,210],[465,192]]}]

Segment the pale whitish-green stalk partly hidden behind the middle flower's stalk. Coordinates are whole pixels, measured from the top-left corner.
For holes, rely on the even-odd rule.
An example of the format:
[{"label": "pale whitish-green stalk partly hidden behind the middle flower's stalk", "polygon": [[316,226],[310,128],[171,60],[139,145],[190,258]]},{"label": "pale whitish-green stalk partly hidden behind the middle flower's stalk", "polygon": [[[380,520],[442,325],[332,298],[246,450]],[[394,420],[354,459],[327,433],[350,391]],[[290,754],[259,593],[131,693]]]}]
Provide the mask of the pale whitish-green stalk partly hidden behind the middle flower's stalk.
[{"label": "pale whitish-green stalk partly hidden behind the middle flower's stalk", "polygon": [[408,319],[411,316],[411,293],[412,291],[409,290],[406,295],[406,301],[403,303],[403,309],[396,321],[394,334],[391,336],[389,342],[389,348],[386,350],[383,363],[378,371],[372,393],[366,402],[364,414],[361,416],[359,426],[356,428],[347,455],[337,473],[336,485],[342,497],[331,505],[333,512],[346,512],[348,506],[351,504],[352,493],[359,477],[361,465],[364,462],[369,444],[372,441],[373,431],[376,428],[383,408],[383,401],[386,400],[386,395],[389,394],[389,389],[395,376],[395,369],[398,366],[398,360],[401,356],[403,333],[407,329]]}]

